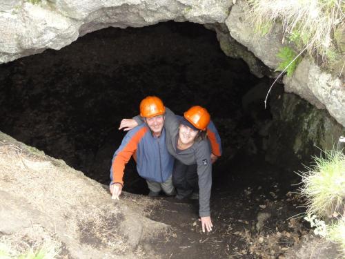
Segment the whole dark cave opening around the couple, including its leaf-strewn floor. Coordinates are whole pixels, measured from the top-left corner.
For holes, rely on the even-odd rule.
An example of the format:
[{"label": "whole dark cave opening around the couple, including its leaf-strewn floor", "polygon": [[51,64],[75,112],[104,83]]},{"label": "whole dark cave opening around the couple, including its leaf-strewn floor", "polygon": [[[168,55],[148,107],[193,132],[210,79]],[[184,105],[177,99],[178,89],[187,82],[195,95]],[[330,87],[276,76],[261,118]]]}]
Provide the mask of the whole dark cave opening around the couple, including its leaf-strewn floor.
[{"label": "whole dark cave opening around the couple, including its leaf-strewn floor", "polygon": [[[190,258],[225,258],[229,251],[247,253],[248,244],[241,240],[248,237],[237,236],[247,233],[244,229],[263,235],[271,230],[275,233],[268,236],[275,238],[265,249],[271,253],[279,244],[277,258],[301,232],[278,235],[298,211],[295,200],[286,197],[294,174],[265,162],[273,117],[263,101],[271,81],[250,74],[241,59],[226,57],[215,32],[198,24],[107,28],[59,51],[1,65],[0,130],[108,184],[112,155],[125,135],[117,130],[119,122],[139,113],[141,99],[157,95],[179,115],[190,106],[204,106],[223,148],[213,166],[210,205],[216,227],[201,240],[197,202],[162,199],[150,217],[181,235],[168,246],[154,244],[155,249],[184,258],[188,251],[179,247],[190,243],[197,246]],[[275,91],[279,98],[282,86]],[[148,193],[134,162],[126,166],[124,182],[125,191]],[[255,249],[261,253],[260,245]]]}]

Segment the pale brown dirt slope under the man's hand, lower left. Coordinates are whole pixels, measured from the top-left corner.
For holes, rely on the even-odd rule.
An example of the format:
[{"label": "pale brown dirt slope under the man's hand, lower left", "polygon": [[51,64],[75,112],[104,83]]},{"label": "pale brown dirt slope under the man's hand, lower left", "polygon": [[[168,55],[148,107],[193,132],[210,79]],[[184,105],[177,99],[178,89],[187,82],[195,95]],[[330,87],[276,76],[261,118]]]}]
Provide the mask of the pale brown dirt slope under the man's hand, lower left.
[{"label": "pale brown dirt slope under the man's hand, lower left", "polygon": [[80,171],[0,131],[0,258],[41,249],[45,259],[159,258],[141,247],[168,227],[146,218],[155,203],[115,202]]}]

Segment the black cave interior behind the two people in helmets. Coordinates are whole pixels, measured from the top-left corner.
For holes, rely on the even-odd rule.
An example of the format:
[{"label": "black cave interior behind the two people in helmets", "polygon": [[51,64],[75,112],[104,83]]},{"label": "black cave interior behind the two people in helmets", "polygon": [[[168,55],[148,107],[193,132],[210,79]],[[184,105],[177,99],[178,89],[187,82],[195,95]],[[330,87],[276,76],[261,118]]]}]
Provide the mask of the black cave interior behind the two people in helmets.
[{"label": "black cave interior behind the two people in helmets", "polygon": [[[193,105],[208,109],[224,151],[213,168],[215,189],[235,178],[245,186],[262,178],[253,166],[264,164],[263,129],[272,120],[264,95],[271,81],[226,57],[215,32],[195,23],[106,28],[61,50],[1,65],[0,131],[108,184],[125,135],[119,122],[137,115],[141,99],[157,95],[177,114]],[[235,167],[243,170],[229,174]],[[125,191],[148,191],[133,161]]]}]

